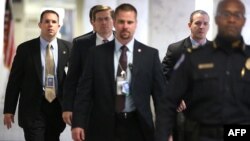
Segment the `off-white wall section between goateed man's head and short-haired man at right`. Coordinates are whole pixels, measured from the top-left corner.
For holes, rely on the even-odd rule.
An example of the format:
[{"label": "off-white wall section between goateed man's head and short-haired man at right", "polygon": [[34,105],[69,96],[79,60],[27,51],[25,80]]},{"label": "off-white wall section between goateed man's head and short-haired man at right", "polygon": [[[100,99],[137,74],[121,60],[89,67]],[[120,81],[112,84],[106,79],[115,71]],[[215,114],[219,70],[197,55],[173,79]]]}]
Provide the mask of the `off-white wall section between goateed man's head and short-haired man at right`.
[{"label": "off-white wall section between goateed man's head and short-haired man at right", "polygon": [[188,21],[195,0],[151,0],[149,7],[149,45],[159,49],[160,58],[170,43],[189,36]]}]

